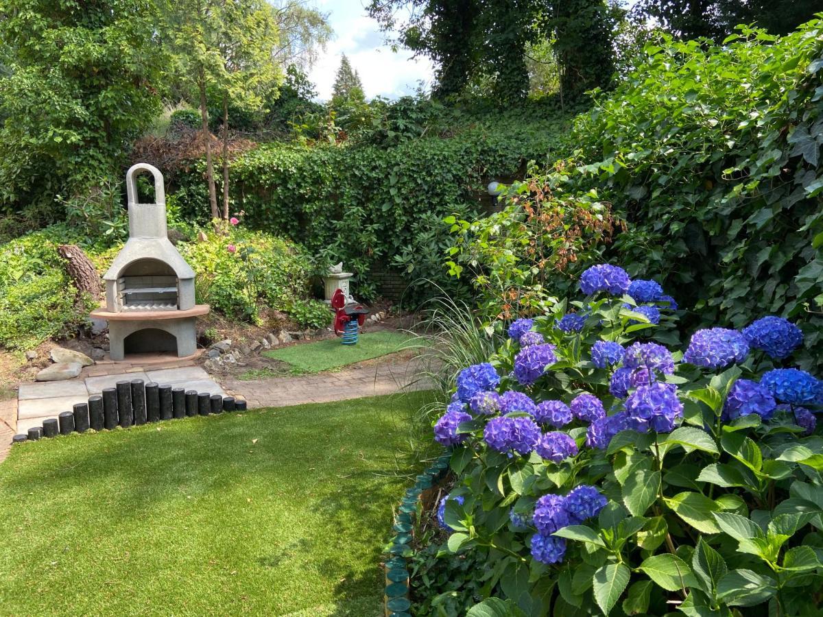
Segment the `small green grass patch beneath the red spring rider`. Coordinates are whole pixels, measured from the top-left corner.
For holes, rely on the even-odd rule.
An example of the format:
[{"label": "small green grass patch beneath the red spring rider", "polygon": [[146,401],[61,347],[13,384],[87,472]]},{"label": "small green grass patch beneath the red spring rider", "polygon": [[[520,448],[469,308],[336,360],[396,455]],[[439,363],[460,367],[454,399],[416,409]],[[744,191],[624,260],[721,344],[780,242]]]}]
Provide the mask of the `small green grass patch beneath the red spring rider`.
[{"label": "small green grass patch beneath the red spring rider", "polygon": [[346,364],[392,354],[407,348],[411,341],[412,336],[402,332],[366,332],[360,335],[357,345],[342,345],[339,338],[333,338],[263,351],[263,355],[291,364],[299,373],[322,373],[339,369]]}]

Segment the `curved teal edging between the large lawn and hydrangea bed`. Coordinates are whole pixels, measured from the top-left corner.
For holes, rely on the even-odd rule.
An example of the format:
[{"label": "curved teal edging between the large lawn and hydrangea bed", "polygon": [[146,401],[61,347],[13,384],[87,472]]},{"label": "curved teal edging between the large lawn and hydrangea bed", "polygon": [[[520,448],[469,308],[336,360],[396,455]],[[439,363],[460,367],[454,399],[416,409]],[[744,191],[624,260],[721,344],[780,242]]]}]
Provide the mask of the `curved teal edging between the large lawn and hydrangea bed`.
[{"label": "curved teal edging between the large lawn and hydrangea bed", "polygon": [[412,552],[409,543],[414,537],[414,517],[420,522],[422,514],[421,496],[432,489],[439,480],[449,473],[451,452],[444,452],[426,467],[421,475],[416,476],[415,484],[407,489],[406,496],[400,502],[392,527],[395,535],[389,543],[385,569],[385,588],[383,594],[384,610],[387,617],[410,617],[412,602],[409,600],[409,571],[407,557]]}]

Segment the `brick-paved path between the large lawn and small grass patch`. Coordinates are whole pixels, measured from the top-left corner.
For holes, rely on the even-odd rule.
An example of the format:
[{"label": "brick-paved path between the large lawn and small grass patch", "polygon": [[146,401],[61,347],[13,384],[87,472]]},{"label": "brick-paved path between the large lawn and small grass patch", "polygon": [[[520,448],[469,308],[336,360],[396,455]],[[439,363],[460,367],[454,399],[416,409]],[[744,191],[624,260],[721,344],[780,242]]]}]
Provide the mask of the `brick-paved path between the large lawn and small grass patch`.
[{"label": "brick-paved path between the large lawn and small grass patch", "polygon": [[220,381],[230,395],[243,397],[248,401],[249,408],[253,409],[375,397],[393,394],[404,388],[419,390],[428,385],[418,378],[420,370],[420,360],[383,360],[305,377],[273,377],[255,381],[224,378]]}]

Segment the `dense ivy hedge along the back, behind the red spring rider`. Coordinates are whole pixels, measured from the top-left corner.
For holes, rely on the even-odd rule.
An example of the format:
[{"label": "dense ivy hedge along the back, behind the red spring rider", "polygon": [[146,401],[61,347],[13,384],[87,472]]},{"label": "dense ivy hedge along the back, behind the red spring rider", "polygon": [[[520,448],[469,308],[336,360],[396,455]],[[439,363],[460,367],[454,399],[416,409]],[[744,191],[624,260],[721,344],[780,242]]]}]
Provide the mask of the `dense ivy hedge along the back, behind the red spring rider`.
[{"label": "dense ivy hedge along the back, behind the red spring rider", "polygon": [[[568,116],[529,118],[528,110],[465,120],[456,130],[424,132],[387,147],[368,143],[267,143],[231,163],[231,197],[253,228],[285,235],[357,274],[355,293],[375,295],[375,270],[402,271],[410,301],[431,294],[422,280],[458,293],[442,255],[446,216],[474,218],[494,179],[523,178],[529,160],[568,155]],[[179,178],[174,199],[203,216],[202,163]],[[415,284],[415,281],[416,284]]]}]

